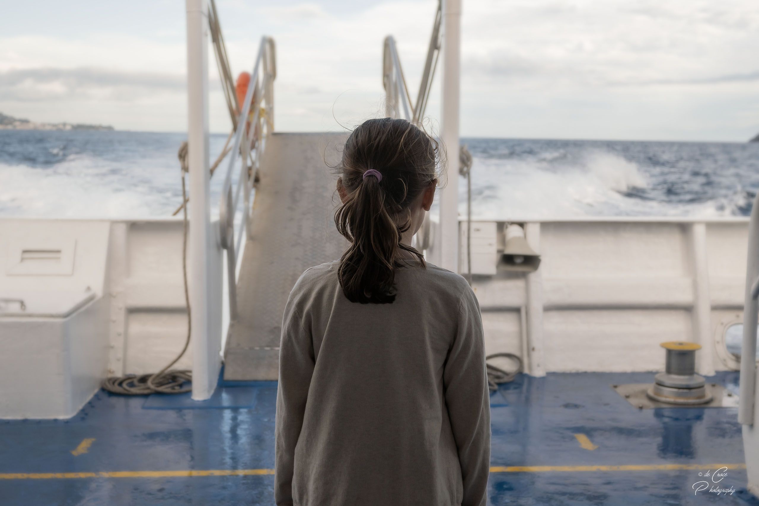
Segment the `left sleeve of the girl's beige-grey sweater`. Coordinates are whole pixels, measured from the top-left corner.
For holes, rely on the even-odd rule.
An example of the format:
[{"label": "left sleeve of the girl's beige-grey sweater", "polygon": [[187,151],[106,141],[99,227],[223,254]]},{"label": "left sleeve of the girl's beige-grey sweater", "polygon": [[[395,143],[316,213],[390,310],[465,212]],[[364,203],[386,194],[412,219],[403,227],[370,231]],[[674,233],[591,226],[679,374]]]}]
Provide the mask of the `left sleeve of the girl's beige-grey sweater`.
[{"label": "left sleeve of the girl's beige-grey sweater", "polygon": [[311,334],[295,307],[293,297],[285,305],[282,340],[279,344],[279,385],[275,422],[274,500],[279,506],[293,504],[292,477],[295,445],[303,426],[308,388],[313,374]]}]

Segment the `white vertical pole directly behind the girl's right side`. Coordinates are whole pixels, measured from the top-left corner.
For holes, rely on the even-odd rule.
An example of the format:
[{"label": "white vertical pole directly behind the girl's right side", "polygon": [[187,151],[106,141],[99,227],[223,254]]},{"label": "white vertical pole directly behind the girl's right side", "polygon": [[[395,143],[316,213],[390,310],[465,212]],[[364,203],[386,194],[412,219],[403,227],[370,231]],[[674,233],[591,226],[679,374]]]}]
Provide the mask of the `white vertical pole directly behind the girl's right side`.
[{"label": "white vertical pole directly behind the girl's right side", "polygon": [[448,152],[448,184],[440,193],[439,234],[435,234],[439,266],[458,272],[458,97],[461,50],[461,0],[442,4],[442,126]]}]

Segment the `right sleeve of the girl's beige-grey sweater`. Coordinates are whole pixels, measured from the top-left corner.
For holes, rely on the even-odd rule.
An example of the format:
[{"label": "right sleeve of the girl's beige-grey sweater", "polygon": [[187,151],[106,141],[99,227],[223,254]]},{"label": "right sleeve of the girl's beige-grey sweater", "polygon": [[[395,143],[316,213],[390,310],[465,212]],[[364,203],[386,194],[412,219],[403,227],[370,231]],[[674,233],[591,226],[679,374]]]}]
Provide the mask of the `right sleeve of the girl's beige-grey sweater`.
[{"label": "right sleeve of the girl's beige-grey sweater", "polygon": [[490,391],[480,304],[469,287],[459,306],[443,382],[464,484],[461,506],[485,506],[490,476]]}]

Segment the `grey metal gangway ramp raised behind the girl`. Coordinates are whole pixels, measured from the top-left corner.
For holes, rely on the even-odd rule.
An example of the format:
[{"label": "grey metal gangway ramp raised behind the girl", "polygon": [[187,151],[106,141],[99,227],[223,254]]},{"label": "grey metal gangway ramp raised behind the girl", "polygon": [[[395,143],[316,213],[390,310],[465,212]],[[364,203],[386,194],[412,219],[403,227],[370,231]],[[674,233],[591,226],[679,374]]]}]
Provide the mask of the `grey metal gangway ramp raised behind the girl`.
[{"label": "grey metal gangway ramp raised behind the girl", "polygon": [[336,179],[326,164],[335,165],[335,145],[346,138],[345,133],[269,137],[238,280],[239,317],[229,325],[224,379],[277,379],[282,313],[295,281],[345,250],[333,221]]}]

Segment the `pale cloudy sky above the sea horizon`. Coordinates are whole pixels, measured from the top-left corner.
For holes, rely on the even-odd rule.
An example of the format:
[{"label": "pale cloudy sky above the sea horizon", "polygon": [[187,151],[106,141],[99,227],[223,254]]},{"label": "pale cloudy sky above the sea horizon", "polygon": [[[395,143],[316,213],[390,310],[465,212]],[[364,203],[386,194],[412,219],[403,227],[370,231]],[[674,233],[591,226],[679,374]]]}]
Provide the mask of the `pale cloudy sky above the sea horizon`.
[{"label": "pale cloudy sky above the sea horizon", "polygon": [[[383,38],[416,90],[435,0],[217,0],[232,70],[276,39],[276,128],[383,111]],[[461,134],[742,141],[759,132],[756,0],[463,0]],[[181,0],[33,0],[0,17],[0,112],[186,128]],[[213,58],[213,53],[211,55]],[[228,131],[213,59],[211,127]],[[412,95],[416,95],[412,92]],[[439,115],[436,80],[428,115]]]}]

